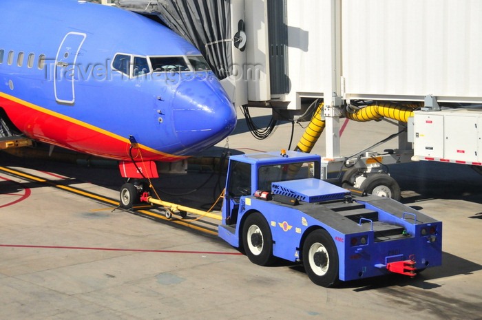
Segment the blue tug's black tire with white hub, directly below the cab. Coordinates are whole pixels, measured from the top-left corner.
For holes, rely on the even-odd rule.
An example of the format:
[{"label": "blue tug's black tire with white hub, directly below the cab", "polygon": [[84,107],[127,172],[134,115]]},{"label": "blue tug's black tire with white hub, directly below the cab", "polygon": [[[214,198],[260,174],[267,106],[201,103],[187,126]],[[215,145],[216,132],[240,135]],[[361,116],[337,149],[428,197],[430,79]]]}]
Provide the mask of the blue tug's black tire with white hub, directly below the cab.
[{"label": "blue tug's black tire with white hub, directly below the cab", "polygon": [[261,213],[251,213],[246,218],[242,228],[242,244],[253,264],[269,266],[274,262],[271,229]]}]

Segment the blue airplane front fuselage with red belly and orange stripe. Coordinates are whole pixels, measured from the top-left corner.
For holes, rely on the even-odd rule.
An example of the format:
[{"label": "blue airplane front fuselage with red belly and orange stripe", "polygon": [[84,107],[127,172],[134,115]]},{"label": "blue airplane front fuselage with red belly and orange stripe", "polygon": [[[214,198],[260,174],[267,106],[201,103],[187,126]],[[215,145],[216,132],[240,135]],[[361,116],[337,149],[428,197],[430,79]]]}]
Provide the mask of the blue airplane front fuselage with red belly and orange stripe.
[{"label": "blue airplane front fuselage with red belly and orange stripe", "polygon": [[30,138],[127,160],[211,147],[235,110],[193,45],[133,12],[73,0],[0,3],[0,108]]}]

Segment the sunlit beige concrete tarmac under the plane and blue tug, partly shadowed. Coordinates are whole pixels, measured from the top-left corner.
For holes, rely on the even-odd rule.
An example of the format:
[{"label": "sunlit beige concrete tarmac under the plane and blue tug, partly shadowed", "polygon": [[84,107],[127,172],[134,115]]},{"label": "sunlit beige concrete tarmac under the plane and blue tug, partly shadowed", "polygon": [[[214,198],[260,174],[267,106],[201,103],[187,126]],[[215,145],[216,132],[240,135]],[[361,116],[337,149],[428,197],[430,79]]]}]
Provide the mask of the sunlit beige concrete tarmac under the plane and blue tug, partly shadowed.
[{"label": "sunlit beige concrete tarmac under the plane and blue tug, partly shadowed", "polygon": [[[260,126],[269,120],[265,110],[251,114]],[[303,131],[295,125],[291,149]],[[386,122],[350,121],[342,154],[395,131]],[[256,140],[240,119],[228,142],[205,155],[288,149],[290,136],[291,124],[282,123]],[[324,134],[313,152],[324,154]],[[297,264],[251,264],[202,228],[114,210],[123,180],[108,162],[0,153],[0,167],[25,174],[0,170],[0,319],[482,319],[482,176],[463,165],[390,166],[402,202],[443,221],[443,266],[339,288],[315,286]],[[154,185],[163,200],[208,209],[224,178],[200,167]]]}]

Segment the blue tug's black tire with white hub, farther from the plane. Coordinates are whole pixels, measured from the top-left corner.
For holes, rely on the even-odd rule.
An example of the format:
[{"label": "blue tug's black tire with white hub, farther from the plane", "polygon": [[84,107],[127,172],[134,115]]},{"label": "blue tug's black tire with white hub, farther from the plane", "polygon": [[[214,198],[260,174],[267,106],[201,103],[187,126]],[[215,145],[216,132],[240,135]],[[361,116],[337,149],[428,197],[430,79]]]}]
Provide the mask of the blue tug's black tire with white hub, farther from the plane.
[{"label": "blue tug's black tire with white hub, farther from the plane", "polygon": [[303,265],[313,283],[326,288],[338,283],[338,251],[323,229],[311,232],[303,244]]}]

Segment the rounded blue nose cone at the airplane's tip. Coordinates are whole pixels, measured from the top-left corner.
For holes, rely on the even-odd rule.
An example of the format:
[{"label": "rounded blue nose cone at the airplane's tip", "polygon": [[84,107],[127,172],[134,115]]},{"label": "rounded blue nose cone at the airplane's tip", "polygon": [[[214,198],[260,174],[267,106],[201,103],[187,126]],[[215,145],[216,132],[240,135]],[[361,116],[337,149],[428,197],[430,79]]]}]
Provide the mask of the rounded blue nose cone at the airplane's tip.
[{"label": "rounded blue nose cone at the airplane's tip", "polygon": [[171,107],[174,129],[189,156],[226,138],[236,125],[236,112],[216,78],[181,81]]}]

